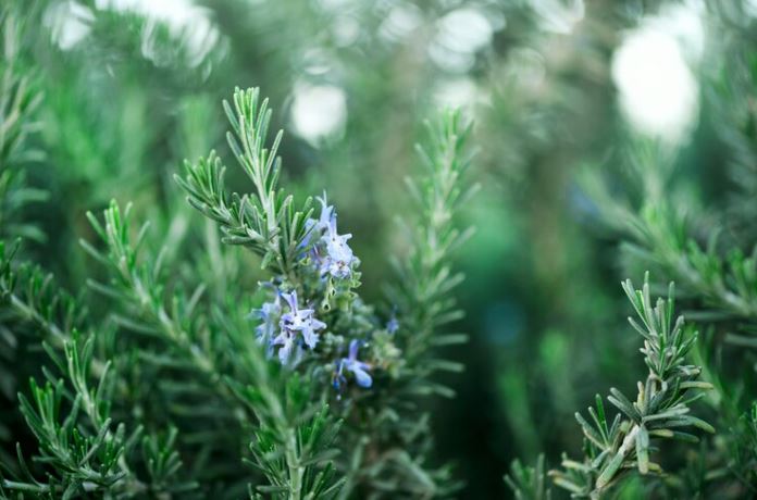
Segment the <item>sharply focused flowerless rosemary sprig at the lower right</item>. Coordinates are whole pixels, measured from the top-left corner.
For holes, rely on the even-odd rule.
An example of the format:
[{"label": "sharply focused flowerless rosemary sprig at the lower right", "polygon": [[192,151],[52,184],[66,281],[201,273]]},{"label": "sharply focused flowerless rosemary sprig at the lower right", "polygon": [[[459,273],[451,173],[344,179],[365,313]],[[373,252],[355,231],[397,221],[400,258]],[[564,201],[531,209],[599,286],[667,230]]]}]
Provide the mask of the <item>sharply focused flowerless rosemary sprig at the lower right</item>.
[{"label": "sharply focused flowerless rosemary sprig at the lower right", "polygon": [[[659,298],[654,304],[648,275],[641,290],[634,289],[631,280],[623,283],[623,290],[638,316],[638,321],[629,321],[644,339],[641,352],[648,374],[646,380],[637,383],[634,401],[619,389],[610,389],[607,400],[619,410],[615,417],[608,416],[598,395],[596,405],[588,408],[588,418],[575,413],[584,436],[584,457],[572,460],[563,455],[562,470],[549,472],[555,485],[573,498],[604,498],[633,471],[661,475],[662,467],[650,460],[654,439],[698,442],[698,437],[686,430],[715,433],[710,424],[691,415],[691,404],[712,385],[698,379],[702,367],[686,362],[697,334],[684,326],[683,316],[674,320],[673,285],[668,299]],[[506,479],[517,497],[544,498],[543,460],[535,470],[513,465]]]}]

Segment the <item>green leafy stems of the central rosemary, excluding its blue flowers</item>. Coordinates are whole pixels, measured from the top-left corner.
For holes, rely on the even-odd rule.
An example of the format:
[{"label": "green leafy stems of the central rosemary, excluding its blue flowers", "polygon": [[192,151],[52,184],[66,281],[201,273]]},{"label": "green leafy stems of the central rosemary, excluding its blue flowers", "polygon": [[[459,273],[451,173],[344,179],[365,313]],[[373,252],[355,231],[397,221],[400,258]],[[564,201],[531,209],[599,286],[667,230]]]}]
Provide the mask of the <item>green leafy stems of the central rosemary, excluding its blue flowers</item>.
[{"label": "green leafy stems of the central rosemary, excluding its blue flowers", "polygon": [[[293,197],[277,188],[281,163],[275,154],[282,134],[276,135],[270,150],[264,147],[271,116],[268,101],[260,101],[258,89],[237,89],[234,109],[228,103],[224,108],[234,130],[234,135],[229,133],[227,136],[229,147],[252,180],[256,193],[228,197],[224,190],[224,168],[212,152],[195,165],[186,163],[187,176],[185,179],[177,177],[177,180],[188,192],[189,203],[220,225],[226,243],[249,247],[262,258],[263,267],[270,266],[274,274],[281,275],[286,286],[295,289],[305,286],[307,291],[308,287],[315,286],[309,285],[309,278],[303,276],[301,266],[307,266],[308,261],[303,264],[300,257],[303,242],[314,233],[312,226],[306,224],[312,213],[311,202],[306,200],[303,208],[295,211]],[[333,455],[327,449],[309,448],[320,442],[330,447],[336,430],[328,430],[325,437],[315,434],[312,443],[303,447],[302,442],[308,440],[298,436],[302,430],[297,430],[294,425],[294,422],[308,421],[301,415],[317,414],[321,416],[309,425],[319,429],[324,427],[322,413],[325,409],[317,412],[302,401],[280,401],[275,392],[265,393],[281,384],[276,383],[276,377],[282,375],[266,375],[269,368],[252,365],[265,364],[264,360],[250,360],[249,372],[259,377],[255,386],[236,389],[237,393],[246,395],[244,399],[265,429],[265,433],[256,435],[252,453],[257,466],[275,488],[271,491],[284,490],[299,498],[301,488],[309,487],[312,495],[330,496],[339,491],[340,486],[340,498],[348,498],[353,491],[367,487],[375,495],[423,496],[446,495],[457,488],[447,467],[426,470],[424,457],[431,445],[430,428],[427,415],[418,414],[414,398],[433,393],[450,396],[449,389],[429,377],[439,370],[458,372],[461,368],[431,354],[433,346],[464,340],[461,335],[434,334],[440,326],[460,317],[448,293],[460,283],[461,276],[450,273],[448,262],[451,252],[466,239],[466,235],[455,229],[452,213],[466,195],[460,188],[460,177],[469,164],[462,150],[469,128],[462,126],[458,113],[451,112],[429,127],[431,149],[429,152],[420,150],[429,168],[427,180],[420,185],[410,184],[420,213],[418,222],[408,232],[408,239],[413,245],[406,260],[396,261],[398,278],[387,293],[394,301],[399,328],[395,338],[383,328],[372,336],[376,357],[374,365],[386,371],[389,379],[381,396],[360,398],[348,405],[337,403],[338,414],[348,422],[340,440],[349,445],[343,445],[343,450],[351,450],[350,457],[344,457],[337,463],[346,475],[344,485],[327,486],[326,478],[332,474],[330,465],[314,478],[309,478],[312,475],[310,467],[298,466],[310,461],[325,462]],[[347,290],[359,284],[358,277],[356,273],[348,280]],[[355,309],[355,314],[359,314],[361,307],[358,302],[352,303],[357,299],[355,293],[347,292],[345,300],[338,299],[345,292],[342,287],[330,278],[325,300],[321,302],[322,311],[352,314]],[[373,318],[350,321],[356,320],[375,322]],[[243,349],[243,346],[237,348]],[[286,395],[303,390],[298,388],[303,383],[296,380],[298,378],[291,378],[280,390]],[[295,386],[290,387],[291,384]],[[251,387],[255,387],[253,392],[246,392],[252,390]],[[305,392],[312,390],[311,387]],[[323,396],[328,397],[327,393]],[[351,413],[356,415],[350,416]],[[365,462],[367,452],[374,457],[371,463]],[[280,461],[268,460],[272,453],[277,453]],[[312,485],[309,486],[309,482]]]}]

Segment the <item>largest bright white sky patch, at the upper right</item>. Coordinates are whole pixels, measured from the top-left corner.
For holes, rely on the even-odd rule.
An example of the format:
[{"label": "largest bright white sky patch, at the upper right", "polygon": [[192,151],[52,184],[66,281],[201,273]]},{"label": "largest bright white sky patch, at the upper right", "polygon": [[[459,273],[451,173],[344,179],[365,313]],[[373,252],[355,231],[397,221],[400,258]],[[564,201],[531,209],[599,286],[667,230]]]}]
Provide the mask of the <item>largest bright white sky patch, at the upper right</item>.
[{"label": "largest bright white sky patch, at the upper right", "polygon": [[640,132],[678,142],[698,115],[699,89],[686,63],[704,46],[697,4],[666,9],[630,32],[612,58],[621,109]]}]

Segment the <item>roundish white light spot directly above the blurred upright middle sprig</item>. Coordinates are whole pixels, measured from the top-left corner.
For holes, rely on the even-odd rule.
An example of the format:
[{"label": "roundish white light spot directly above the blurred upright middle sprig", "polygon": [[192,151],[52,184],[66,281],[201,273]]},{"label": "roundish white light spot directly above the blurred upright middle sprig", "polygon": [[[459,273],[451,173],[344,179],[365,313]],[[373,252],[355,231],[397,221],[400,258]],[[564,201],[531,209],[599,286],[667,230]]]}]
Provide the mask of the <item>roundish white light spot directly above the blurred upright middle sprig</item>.
[{"label": "roundish white light spot directly above the blurred upright middle sprig", "polygon": [[473,66],[475,53],[488,46],[493,36],[494,26],[483,12],[457,9],[437,21],[429,54],[439,67],[464,73]]}]

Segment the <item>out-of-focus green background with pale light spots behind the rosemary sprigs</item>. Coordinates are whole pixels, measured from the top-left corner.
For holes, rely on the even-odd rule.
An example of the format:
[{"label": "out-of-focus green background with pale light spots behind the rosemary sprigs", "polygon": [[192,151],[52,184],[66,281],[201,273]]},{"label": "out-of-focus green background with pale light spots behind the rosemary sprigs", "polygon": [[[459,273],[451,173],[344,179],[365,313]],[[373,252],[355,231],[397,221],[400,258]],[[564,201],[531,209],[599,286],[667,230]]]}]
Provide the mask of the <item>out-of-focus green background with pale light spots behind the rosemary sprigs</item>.
[{"label": "out-of-focus green background with pale light spots behind the rosemary sprigs", "polygon": [[[270,97],[286,183],[300,197],[328,191],[369,298],[401,245],[395,218],[423,120],[460,107],[475,122],[482,189],[460,214],[476,234],[458,254],[467,316],[456,325],[470,342],[452,353],[467,371],[447,380],[457,399],[434,409],[438,460],[455,462],[462,498],[509,496],[516,457],[544,450],[555,465],[576,451],[574,411],[643,373],[619,286],[642,275],[623,270],[585,179],[624,191],[613,177],[624,151],[651,143],[692,199],[727,203],[723,25],[757,16],[757,2],[730,0],[20,4],[33,28],[18,63],[44,93],[32,140],[45,154],[28,183],[50,192],[28,209],[48,235],[30,248],[74,290],[88,275],[85,212],[111,198],[175,241],[210,230],[172,175],[211,148],[231,158],[220,104],[235,86]],[[258,265],[239,258],[252,286]]]}]

